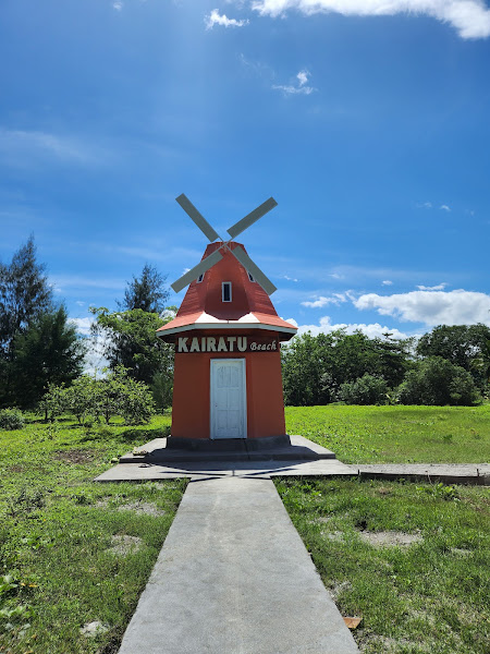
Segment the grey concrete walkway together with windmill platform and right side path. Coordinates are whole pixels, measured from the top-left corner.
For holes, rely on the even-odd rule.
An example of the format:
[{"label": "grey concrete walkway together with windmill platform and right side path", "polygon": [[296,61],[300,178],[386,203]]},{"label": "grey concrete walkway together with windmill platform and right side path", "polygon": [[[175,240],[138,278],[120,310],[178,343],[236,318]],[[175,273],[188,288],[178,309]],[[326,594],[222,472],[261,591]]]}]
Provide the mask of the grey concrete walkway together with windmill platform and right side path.
[{"label": "grey concrete walkway together with windmill platform and right side path", "polygon": [[355,641],[324,589],[272,476],[490,484],[490,465],[345,465],[301,437],[258,452],[168,450],[156,439],[99,482],[189,477],[120,654],[350,654]]}]

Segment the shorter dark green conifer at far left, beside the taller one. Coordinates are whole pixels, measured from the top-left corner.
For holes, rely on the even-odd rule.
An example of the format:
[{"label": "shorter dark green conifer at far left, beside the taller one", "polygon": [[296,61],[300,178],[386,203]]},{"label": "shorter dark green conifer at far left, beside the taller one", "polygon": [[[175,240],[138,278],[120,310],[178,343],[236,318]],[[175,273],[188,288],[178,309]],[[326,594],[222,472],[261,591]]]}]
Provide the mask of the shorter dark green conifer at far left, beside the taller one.
[{"label": "shorter dark green conifer at far left, beside the taller one", "polygon": [[10,391],[24,409],[38,402],[48,384],[70,384],[82,373],[85,348],[63,306],[32,320],[11,350]]}]

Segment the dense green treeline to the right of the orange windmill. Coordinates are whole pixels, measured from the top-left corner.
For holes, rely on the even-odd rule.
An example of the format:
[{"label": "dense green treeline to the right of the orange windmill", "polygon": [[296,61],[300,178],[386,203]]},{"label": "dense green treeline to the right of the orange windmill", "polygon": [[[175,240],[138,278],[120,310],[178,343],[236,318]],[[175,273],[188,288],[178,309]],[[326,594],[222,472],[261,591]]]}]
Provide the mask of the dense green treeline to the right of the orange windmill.
[{"label": "dense green treeline to the right of the orange windmill", "polygon": [[281,356],[286,404],[471,405],[489,391],[490,328],[440,325],[418,340],[304,334]]}]

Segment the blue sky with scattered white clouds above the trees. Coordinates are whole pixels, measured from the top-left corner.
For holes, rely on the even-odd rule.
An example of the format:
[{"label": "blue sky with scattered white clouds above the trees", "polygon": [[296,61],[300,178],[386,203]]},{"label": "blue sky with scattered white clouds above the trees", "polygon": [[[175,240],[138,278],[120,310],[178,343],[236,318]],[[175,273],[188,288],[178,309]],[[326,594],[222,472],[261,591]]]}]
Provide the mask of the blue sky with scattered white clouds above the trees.
[{"label": "blue sky with scattered white clouds above the trees", "polygon": [[[490,325],[490,3],[2,0],[0,261],[82,334],[237,239],[299,331]],[[170,293],[179,305],[184,291]]]}]

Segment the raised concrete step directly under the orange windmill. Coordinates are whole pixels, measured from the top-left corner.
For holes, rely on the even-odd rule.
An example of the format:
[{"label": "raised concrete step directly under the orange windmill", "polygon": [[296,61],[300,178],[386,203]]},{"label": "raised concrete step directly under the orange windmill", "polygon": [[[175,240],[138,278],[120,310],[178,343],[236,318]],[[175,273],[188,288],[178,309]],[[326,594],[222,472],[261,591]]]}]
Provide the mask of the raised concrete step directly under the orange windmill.
[{"label": "raised concrete step directly under the orange windmill", "polygon": [[[182,441],[184,439],[180,439]],[[257,443],[260,440],[261,443]],[[195,445],[195,447],[191,447]],[[172,437],[155,438],[135,452],[120,458],[120,463],[175,463],[216,461],[299,461],[334,459],[335,455],[303,436],[206,440],[203,444],[175,445]]]}]

